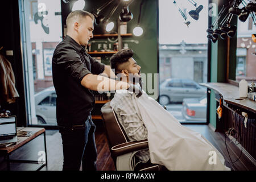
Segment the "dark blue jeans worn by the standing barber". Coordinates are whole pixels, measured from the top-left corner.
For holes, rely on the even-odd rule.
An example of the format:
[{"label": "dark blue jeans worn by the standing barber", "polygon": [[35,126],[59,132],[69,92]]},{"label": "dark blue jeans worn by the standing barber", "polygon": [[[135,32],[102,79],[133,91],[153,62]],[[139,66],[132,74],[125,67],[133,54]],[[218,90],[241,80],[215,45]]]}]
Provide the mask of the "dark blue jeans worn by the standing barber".
[{"label": "dark blue jeans worn by the standing barber", "polygon": [[90,116],[85,121],[85,127],[77,129],[60,128],[63,144],[63,171],[96,171],[97,148],[94,131],[96,126]]}]

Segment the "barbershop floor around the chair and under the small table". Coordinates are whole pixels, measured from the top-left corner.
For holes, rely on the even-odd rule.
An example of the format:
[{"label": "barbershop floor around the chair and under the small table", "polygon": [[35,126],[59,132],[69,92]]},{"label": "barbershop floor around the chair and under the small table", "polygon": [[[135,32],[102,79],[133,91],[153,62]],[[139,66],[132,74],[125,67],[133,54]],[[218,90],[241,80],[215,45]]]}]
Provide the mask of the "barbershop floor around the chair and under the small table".
[{"label": "barbershop floor around the chair and under the small table", "polygon": [[[98,151],[97,157],[97,169],[99,171],[113,171],[115,170],[114,162],[110,156],[108,142],[104,133],[104,127],[101,123],[96,122],[96,146]],[[225,142],[223,135],[213,132],[207,125],[184,125],[189,129],[201,133],[205,138],[211,142],[218,151],[224,155],[226,166],[232,168],[232,170],[256,170],[255,165],[246,158],[245,155],[242,155],[241,159],[236,163],[229,163],[229,156],[226,151]],[[63,152],[61,144],[61,136],[57,130],[47,130],[47,158],[48,165],[43,167],[42,171],[60,171],[62,170],[63,164]],[[228,148],[232,160],[236,160],[240,155],[240,151],[237,150],[236,146],[228,143]],[[27,143],[25,146],[16,150],[11,156],[11,159],[28,159],[28,160],[38,160],[38,152],[44,151],[43,136],[40,136],[30,143]],[[38,168],[38,164],[17,164],[11,163],[11,170],[15,171],[30,171]],[[3,157],[0,156],[0,170],[6,170],[6,163],[3,160]]]}]

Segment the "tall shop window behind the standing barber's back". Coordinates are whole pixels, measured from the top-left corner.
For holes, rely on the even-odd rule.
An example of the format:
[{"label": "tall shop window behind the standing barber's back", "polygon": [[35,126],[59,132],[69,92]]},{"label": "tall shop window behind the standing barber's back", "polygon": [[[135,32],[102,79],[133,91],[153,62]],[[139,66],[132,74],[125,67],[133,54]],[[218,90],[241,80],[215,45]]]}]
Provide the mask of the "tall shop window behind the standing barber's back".
[{"label": "tall shop window behind the standing barber's back", "polygon": [[62,40],[60,3],[20,0],[28,125],[57,125],[51,61]]}]

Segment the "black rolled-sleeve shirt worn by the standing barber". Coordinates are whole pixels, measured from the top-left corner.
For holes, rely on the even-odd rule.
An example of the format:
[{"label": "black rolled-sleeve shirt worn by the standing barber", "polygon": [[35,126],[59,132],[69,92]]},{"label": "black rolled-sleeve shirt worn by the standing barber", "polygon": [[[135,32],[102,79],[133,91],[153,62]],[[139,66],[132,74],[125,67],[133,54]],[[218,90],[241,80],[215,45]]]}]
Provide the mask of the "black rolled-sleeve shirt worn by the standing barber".
[{"label": "black rolled-sleeve shirt worn by the standing barber", "polygon": [[57,123],[61,126],[80,125],[85,122],[94,106],[94,95],[81,85],[82,78],[104,72],[104,64],[86,53],[70,36],[56,47],[52,57],[52,77],[56,90]]}]

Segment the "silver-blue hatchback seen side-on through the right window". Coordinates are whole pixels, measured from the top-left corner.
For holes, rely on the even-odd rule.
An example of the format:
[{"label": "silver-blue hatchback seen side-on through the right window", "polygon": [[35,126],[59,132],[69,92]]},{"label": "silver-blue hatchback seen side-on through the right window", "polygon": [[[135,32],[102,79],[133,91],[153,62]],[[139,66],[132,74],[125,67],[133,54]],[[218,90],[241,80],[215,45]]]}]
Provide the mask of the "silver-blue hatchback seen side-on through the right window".
[{"label": "silver-blue hatchback seen side-on through the right window", "polygon": [[159,102],[167,105],[170,102],[182,102],[184,98],[200,98],[206,89],[189,79],[168,78],[160,84]]}]

